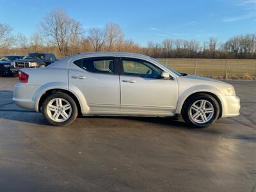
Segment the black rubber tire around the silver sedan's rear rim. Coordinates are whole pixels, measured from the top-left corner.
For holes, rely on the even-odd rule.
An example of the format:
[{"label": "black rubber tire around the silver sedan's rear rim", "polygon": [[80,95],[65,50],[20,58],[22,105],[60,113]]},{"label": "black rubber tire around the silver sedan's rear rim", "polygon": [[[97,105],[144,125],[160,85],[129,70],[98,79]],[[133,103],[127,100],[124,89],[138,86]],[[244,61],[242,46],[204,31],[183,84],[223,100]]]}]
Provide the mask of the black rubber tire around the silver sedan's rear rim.
[{"label": "black rubber tire around the silver sedan's rear rim", "polygon": [[[54,120],[51,119],[51,117],[47,114],[47,105],[49,104],[49,102],[52,99],[56,99],[56,98],[61,98],[61,99],[65,99],[69,102],[70,106],[71,106],[71,115],[70,117],[65,120],[64,122],[55,122]],[[74,101],[74,99],[72,99],[72,97],[70,97],[69,95],[67,95],[66,93],[62,93],[62,92],[56,92],[53,93],[52,95],[49,95],[43,102],[42,105],[42,113],[45,117],[45,119],[47,120],[47,122],[49,122],[49,124],[54,125],[54,126],[65,126],[68,124],[71,124],[72,122],[74,122],[74,120],[76,120],[77,115],[78,115],[78,111],[77,111],[77,106],[76,106],[76,102]]]}]

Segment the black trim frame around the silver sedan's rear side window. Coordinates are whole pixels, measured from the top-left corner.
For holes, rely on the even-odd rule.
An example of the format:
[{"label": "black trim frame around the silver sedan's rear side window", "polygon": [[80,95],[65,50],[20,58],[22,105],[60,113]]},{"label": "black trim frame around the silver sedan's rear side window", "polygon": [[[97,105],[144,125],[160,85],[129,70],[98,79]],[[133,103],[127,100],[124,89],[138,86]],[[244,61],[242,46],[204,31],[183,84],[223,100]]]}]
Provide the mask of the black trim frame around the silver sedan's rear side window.
[{"label": "black trim frame around the silver sedan's rear side window", "polygon": [[[89,71],[89,70],[85,70],[82,65],[83,65],[83,60],[113,60],[113,65],[114,65],[114,72],[113,74],[110,74],[110,73],[102,73],[102,72],[93,72],[93,71]],[[76,63],[74,63],[75,61],[80,61],[79,65],[77,65]],[[88,58],[79,58],[78,60],[74,60],[72,61],[72,63],[74,65],[76,65],[77,67],[79,67],[81,70],[85,71],[85,72],[89,72],[89,73],[92,73],[92,74],[103,74],[103,75],[119,75],[120,74],[120,67],[118,65],[118,58],[115,57],[115,56],[96,56],[96,57],[88,57]]]}]

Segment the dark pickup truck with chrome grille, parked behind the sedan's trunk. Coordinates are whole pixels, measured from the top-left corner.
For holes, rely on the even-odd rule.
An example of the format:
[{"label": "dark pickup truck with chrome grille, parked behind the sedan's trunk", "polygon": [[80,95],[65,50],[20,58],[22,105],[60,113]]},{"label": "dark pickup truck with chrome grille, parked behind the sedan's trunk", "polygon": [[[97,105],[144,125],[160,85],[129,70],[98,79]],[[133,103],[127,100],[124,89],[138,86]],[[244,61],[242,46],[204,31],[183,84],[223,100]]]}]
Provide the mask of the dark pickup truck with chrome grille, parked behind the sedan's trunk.
[{"label": "dark pickup truck with chrome grille, parked behind the sedan's trunk", "polygon": [[44,68],[56,61],[56,57],[52,53],[31,52],[26,54],[22,60],[12,62],[11,71],[13,76],[18,76],[22,68]]}]

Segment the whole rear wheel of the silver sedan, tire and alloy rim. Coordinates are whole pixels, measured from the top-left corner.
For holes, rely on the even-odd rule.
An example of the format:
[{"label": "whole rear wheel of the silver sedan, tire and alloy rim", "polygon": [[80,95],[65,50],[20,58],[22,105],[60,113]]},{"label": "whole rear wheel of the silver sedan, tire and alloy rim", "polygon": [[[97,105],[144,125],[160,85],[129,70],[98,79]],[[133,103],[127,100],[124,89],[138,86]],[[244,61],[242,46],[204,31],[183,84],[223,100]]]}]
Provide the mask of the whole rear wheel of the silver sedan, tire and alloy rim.
[{"label": "whole rear wheel of the silver sedan, tire and alloy rim", "polygon": [[53,93],[44,100],[42,113],[49,124],[65,126],[76,120],[76,102],[66,93]]}]

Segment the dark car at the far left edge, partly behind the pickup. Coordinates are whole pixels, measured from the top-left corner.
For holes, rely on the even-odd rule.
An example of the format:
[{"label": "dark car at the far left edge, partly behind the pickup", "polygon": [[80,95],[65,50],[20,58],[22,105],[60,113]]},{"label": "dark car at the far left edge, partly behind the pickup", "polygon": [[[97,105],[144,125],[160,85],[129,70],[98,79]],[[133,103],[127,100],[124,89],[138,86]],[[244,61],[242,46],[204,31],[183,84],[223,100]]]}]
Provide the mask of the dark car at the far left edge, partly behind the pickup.
[{"label": "dark car at the far left edge, partly behind the pickup", "polygon": [[12,76],[10,70],[11,63],[14,60],[20,60],[24,56],[22,55],[6,55],[0,58],[0,76]]}]

